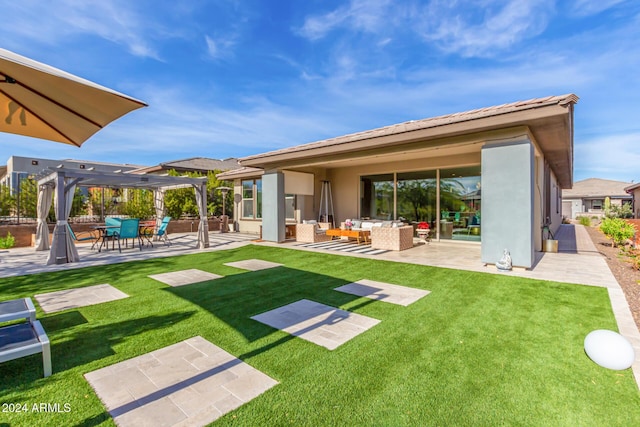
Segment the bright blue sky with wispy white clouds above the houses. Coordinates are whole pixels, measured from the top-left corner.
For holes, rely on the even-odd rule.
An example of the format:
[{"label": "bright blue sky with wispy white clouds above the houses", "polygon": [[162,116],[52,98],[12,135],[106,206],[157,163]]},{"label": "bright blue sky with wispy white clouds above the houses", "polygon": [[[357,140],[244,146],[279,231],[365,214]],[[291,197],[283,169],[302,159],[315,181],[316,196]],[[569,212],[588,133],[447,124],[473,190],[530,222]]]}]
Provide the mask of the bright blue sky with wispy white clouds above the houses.
[{"label": "bright blue sky with wispy white clouds above the houses", "polygon": [[153,165],[242,157],[575,93],[574,179],[640,180],[637,0],[0,0],[0,47],[144,100],[81,148]]}]

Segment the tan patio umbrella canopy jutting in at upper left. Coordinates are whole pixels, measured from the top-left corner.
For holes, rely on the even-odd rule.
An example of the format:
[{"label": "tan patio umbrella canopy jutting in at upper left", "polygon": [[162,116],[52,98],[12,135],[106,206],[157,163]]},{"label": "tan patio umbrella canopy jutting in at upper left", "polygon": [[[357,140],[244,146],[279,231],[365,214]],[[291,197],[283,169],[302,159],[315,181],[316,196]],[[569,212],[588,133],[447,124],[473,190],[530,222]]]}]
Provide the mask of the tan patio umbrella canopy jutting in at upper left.
[{"label": "tan patio umbrella canopy jutting in at upper left", "polygon": [[146,105],[0,49],[0,132],[79,147],[112,121]]}]

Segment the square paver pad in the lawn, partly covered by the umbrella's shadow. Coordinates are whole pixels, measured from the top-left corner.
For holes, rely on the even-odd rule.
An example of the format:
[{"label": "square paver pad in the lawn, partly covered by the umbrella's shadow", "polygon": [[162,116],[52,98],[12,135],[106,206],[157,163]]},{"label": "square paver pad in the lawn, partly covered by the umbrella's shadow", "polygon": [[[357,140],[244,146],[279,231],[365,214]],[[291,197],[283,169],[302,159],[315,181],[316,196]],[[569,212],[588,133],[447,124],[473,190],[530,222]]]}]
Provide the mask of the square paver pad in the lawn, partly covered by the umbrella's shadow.
[{"label": "square paver pad in the lawn, partly covered by the umbrella's shadow", "polygon": [[371,317],[306,299],[251,318],[329,350],[380,323]]}]

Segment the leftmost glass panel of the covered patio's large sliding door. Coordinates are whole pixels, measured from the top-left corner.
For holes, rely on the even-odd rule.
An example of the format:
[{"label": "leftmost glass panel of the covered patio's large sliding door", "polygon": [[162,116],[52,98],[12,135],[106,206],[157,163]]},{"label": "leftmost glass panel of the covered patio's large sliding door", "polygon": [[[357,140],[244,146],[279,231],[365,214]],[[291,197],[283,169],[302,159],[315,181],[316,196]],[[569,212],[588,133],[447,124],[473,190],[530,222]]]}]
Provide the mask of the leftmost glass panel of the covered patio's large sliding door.
[{"label": "leftmost glass panel of the covered patio's large sliding door", "polygon": [[360,216],[393,219],[393,174],[368,175],[360,178]]}]

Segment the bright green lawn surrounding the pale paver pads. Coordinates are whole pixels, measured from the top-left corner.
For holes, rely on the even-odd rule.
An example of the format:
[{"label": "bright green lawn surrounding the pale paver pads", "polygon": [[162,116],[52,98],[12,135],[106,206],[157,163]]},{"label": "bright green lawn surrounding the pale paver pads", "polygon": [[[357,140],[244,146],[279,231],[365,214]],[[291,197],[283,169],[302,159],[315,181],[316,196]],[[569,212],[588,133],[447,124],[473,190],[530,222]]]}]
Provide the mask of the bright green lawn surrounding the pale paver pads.
[{"label": "bright green lawn surrounding the pale paver pads", "polygon": [[[247,272],[258,258],[283,267]],[[222,279],[171,288],[148,278],[198,268]],[[333,289],[371,279],[428,289],[408,307]],[[221,425],[612,426],[640,420],[631,370],[585,355],[584,337],[616,330],[607,290],[371,259],[247,246],[0,280],[8,300],[109,283],[130,297],[38,318],[52,342],[0,365],[0,425],[113,425],[83,374],[200,335],[279,382]],[[336,350],[250,317],[309,299],[381,322]],[[35,301],[34,301],[35,302]],[[33,412],[33,404],[69,412]],[[3,408],[6,408],[3,405]]]}]

